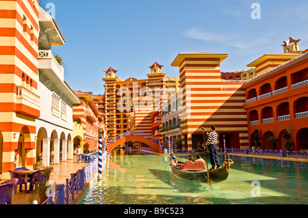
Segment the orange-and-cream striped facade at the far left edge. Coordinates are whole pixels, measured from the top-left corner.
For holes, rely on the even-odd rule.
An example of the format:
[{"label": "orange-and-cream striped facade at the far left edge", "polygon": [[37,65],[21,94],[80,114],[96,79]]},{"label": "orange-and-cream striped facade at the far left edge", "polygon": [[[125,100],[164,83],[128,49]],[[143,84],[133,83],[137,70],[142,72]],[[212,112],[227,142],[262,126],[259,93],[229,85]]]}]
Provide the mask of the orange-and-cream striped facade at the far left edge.
[{"label": "orange-and-cream striped facade at the far left edge", "polygon": [[35,161],[38,87],[38,1],[0,1],[0,167]]}]

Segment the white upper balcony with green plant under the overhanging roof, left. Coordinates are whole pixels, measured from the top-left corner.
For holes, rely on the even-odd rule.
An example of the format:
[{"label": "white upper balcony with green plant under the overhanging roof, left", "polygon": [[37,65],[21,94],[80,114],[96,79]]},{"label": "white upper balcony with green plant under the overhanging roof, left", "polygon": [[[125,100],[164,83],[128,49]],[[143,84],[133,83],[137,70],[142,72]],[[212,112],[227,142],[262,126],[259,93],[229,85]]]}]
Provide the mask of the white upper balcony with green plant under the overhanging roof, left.
[{"label": "white upper balcony with green plant under the overhanging roof, left", "polygon": [[60,65],[51,50],[38,51],[38,69],[53,83],[64,81],[64,69]]}]

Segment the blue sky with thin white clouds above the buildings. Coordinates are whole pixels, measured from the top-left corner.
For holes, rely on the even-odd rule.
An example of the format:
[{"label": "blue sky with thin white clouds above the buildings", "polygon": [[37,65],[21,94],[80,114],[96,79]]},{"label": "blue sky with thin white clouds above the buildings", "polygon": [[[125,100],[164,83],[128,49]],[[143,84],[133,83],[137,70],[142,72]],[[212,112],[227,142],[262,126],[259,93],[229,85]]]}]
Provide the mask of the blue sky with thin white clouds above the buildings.
[{"label": "blue sky with thin white clouds above the buildings", "polygon": [[[179,77],[170,66],[178,53],[228,53],[222,72],[240,71],[265,53],[283,52],[284,40],[301,39],[308,49],[307,0],[40,0],[55,5],[55,21],[64,46],[64,79],[73,90],[103,94],[104,70],[121,79],[146,79],[154,62],[167,77]],[[260,19],[253,19],[253,3]]]}]

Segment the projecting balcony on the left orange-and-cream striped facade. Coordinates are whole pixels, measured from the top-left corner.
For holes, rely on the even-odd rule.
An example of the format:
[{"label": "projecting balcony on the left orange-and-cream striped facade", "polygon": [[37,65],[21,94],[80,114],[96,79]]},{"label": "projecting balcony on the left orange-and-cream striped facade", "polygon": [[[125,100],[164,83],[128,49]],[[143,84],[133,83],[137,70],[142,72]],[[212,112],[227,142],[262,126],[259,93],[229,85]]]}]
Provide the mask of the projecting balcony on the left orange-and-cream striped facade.
[{"label": "projecting balcony on the left orange-and-cream striped facade", "polygon": [[38,118],[40,116],[40,96],[23,85],[17,86],[16,104],[18,105],[16,107],[16,112],[29,115],[34,118]]}]

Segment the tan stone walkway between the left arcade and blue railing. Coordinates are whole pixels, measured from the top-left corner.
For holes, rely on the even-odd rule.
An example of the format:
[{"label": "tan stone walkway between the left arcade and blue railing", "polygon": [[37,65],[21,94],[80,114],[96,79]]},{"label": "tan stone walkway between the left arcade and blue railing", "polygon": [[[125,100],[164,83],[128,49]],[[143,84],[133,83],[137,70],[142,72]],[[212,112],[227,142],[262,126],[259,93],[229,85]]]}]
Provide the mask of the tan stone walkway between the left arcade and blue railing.
[{"label": "tan stone walkway between the left arcade and blue railing", "polygon": [[[70,179],[70,174],[75,173],[78,169],[86,166],[87,163],[77,163],[77,157],[74,159],[57,163],[53,165],[53,172],[51,173],[50,180],[55,181],[56,184],[66,184],[66,178]],[[28,187],[29,189],[29,183]],[[33,192],[27,193],[23,186],[22,192],[17,188],[16,195],[12,199],[12,204],[31,204],[34,199]]]}]

